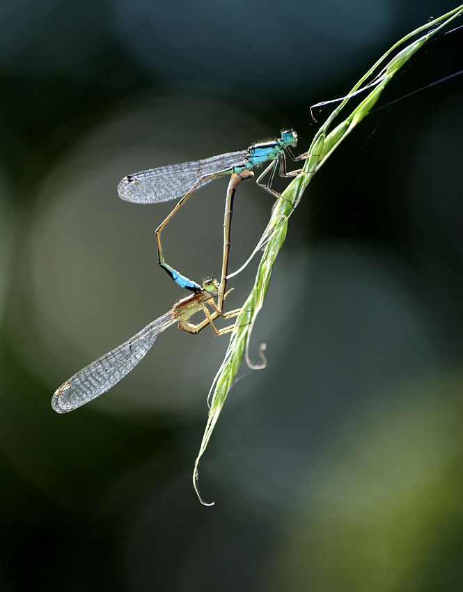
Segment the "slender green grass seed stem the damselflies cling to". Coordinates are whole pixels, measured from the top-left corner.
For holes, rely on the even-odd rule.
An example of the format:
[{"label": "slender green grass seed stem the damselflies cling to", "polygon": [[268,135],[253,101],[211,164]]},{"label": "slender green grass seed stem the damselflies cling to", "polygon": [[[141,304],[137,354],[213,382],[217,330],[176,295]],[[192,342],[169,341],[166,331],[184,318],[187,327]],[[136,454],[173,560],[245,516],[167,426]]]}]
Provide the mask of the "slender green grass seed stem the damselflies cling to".
[{"label": "slender green grass seed stem the damselflies cling to", "polygon": [[[354,84],[350,93],[348,93],[343,100],[340,101],[338,107],[333,109],[327,120],[320,127],[315,134],[311,147],[308,150],[307,157],[304,163],[304,168],[301,173],[290,182],[290,185],[283,191],[283,198],[280,198],[276,203],[275,208],[272,211],[267,228],[265,228],[264,234],[262,235],[258,247],[254,251],[254,254],[261,247],[265,246],[265,250],[260,259],[256,279],[254,281],[251,293],[246,299],[242,306],[242,311],[237,317],[235,323],[235,329],[230,337],[230,343],[226,351],[225,358],[214,378],[208,400],[210,400],[210,410],[201,442],[201,447],[198,452],[198,457],[194,464],[193,473],[193,484],[198,494],[198,498],[201,504],[210,506],[212,504],[206,504],[201,497],[198,490],[198,465],[201,457],[205,453],[207,444],[209,443],[214,426],[219,419],[219,414],[222,410],[223,403],[225,403],[228,391],[233,385],[233,381],[237,375],[237,371],[240,368],[240,364],[243,359],[244,351],[246,349],[246,343],[251,335],[252,328],[256,318],[262,309],[264,304],[265,295],[269,287],[270,278],[272,276],[272,267],[276,256],[283,246],[283,242],[288,231],[288,220],[292,212],[294,212],[297,204],[301,200],[302,195],[311,181],[311,178],[315,175],[320,167],[327,161],[334,150],[338,148],[340,143],[347,137],[354,127],[358,125],[363,118],[365,118],[372,107],[376,104],[386,84],[392,77],[402,68],[407,61],[413,56],[418,49],[420,49],[432,36],[438,31],[448,26],[448,24],[463,14],[463,5],[450,10],[450,12],[434,19],[423,26],[418,27],[414,31],[411,31],[408,35],[396,42],[387,52],[382,55],[378,61],[376,61],[372,67],[366,72],[359,81]],[[420,33],[425,32],[422,36],[418,37]],[[407,41],[414,39],[405,45]],[[405,47],[403,47],[405,45]],[[397,49],[400,49],[396,52]],[[378,72],[374,79],[372,79],[366,86],[362,87],[363,84],[367,83],[368,79],[372,75]],[[329,131],[332,127],[333,120],[340,114],[340,111],[345,109],[347,103],[352,97],[358,96],[359,90],[363,88],[363,92],[370,90],[366,98],[364,98],[360,104],[355,107],[351,113],[339,123],[331,132]],[[247,262],[246,262],[247,263]],[[245,264],[246,265],[246,264]]]}]

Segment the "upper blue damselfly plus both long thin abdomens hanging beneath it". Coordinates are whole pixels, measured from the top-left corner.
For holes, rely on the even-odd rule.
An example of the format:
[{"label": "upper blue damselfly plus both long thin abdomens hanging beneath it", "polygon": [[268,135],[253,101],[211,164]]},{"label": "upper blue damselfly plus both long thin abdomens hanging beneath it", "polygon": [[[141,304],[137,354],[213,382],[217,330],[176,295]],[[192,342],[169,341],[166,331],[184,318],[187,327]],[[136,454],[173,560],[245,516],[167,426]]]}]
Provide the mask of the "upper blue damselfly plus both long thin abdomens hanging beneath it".
[{"label": "upper blue damselfly plus both long thin abdomens hanging beneath it", "polygon": [[[272,188],[272,181],[279,164],[281,177],[292,177],[300,171],[286,169],[286,158],[288,155],[292,160],[300,160],[295,157],[291,148],[297,145],[297,133],[294,130],[287,130],[281,133],[281,138],[273,141],[253,144],[246,150],[230,152],[219,156],[212,156],[195,162],[183,162],[182,164],[171,164],[160,166],[157,169],[148,169],[133,175],[127,175],[118,185],[120,198],[135,203],[160,203],[171,199],[179,199],[171,213],[162,221],[156,229],[157,258],[159,265],[178,283],[181,288],[192,292],[201,290],[201,286],[191,281],[186,276],[173,269],[166,263],[162,249],[161,233],[168,221],[185,205],[188,198],[210,181],[224,175],[231,175],[228,184],[225,215],[223,223],[223,256],[219,293],[217,297],[217,308],[222,311],[223,297],[225,295],[228,255],[230,251],[230,227],[233,215],[233,198],[240,182],[253,177],[252,169],[256,166],[269,162],[267,168],[260,174],[256,182],[276,198],[281,195]],[[303,155],[305,157],[306,155]],[[265,176],[269,176],[267,184],[263,182]]]}]

